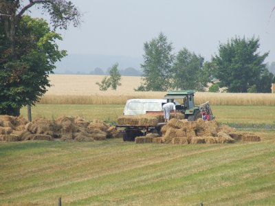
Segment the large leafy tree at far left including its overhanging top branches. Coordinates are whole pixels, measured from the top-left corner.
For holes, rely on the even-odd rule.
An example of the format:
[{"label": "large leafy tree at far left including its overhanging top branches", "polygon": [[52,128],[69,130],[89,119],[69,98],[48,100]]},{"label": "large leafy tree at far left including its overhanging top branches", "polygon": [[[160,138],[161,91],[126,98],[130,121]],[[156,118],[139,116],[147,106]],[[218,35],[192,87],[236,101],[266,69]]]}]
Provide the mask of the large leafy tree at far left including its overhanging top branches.
[{"label": "large leafy tree at far left including its overhanging top branches", "polygon": [[65,55],[55,43],[61,36],[45,22],[23,16],[34,5],[50,14],[54,30],[80,24],[81,14],[71,1],[0,1],[0,114],[19,115],[21,106],[39,100],[50,86],[47,74]]}]

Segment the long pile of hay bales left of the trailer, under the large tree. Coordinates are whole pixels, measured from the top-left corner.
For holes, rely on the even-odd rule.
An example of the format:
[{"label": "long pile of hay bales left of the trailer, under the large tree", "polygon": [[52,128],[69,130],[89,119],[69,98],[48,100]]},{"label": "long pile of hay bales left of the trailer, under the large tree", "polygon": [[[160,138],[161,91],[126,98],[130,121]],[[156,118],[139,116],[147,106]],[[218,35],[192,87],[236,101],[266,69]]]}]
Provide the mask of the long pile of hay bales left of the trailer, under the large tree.
[{"label": "long pile of hay bales left of the trailer, under the large tree", "polygon": [[56,120],[0,115],[0,141],[61,140],[94,141],[118,137],[118,130],[99,120],[87,122],[81,117],[60,117]]}]

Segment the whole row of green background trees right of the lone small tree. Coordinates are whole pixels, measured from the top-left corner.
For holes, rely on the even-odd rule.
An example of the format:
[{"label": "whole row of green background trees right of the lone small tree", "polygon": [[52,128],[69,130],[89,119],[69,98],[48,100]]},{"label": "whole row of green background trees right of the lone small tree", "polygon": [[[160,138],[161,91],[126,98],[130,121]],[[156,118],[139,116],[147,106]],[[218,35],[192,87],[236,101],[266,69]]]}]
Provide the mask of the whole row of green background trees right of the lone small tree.
[{"label": "whole row of green background trees right of the lone small tree", "polygon": [[265,65],[265,54],[259,54],[259,38],[235,37],[221,43],[210,61],[183,48],[173,54],[173,43],[161,32],[144,43],[143,82],[136,91],[194,89],[232,93],[270,93],[274,75]]}]

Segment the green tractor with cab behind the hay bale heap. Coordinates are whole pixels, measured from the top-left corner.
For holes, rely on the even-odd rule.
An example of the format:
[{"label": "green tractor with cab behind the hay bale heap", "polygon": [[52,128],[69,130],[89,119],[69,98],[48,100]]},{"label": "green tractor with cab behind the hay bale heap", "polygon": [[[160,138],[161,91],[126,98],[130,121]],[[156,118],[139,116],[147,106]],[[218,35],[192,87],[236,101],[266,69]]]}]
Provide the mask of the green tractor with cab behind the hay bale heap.
[{"label": "green tractor with cab behind the hay bale heap", "polygon": [[[183,113],[184,119],[188,119],[188,121],[195,121],[198,118],[203,118],[203,112],[209,115],[210,119],[208,120],[214,119],[209,102],[195,106],[194,93],[195,92],[192,90],[169,91],[164,96],[164,99],[166,99],[167,102],[175,101],[176,111]],[[181,102],[181,104],[178,102]]]}]

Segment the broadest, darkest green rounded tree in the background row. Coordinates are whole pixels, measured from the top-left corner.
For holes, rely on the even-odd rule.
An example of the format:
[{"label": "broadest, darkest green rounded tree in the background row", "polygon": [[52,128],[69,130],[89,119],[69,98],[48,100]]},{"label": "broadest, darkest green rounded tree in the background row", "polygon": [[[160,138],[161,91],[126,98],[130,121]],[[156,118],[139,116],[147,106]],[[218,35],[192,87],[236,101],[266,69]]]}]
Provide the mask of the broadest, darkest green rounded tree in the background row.
[{"label": "broadest, darkest green rounded tree in the background row", "polygon": [[232,38],[219,45],[219,54],[212,57],[212,75],[228,92],[246,93],[251,87],[259,87],[265,69],[263,63],[268,53],[260,55],[259,38]]}]

